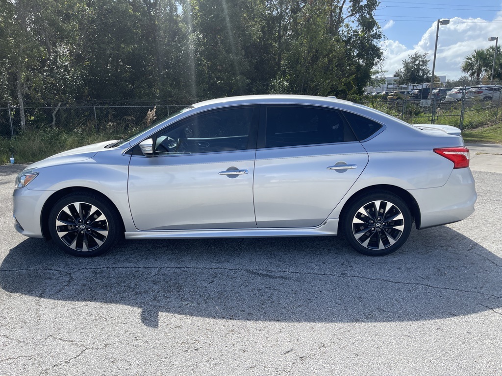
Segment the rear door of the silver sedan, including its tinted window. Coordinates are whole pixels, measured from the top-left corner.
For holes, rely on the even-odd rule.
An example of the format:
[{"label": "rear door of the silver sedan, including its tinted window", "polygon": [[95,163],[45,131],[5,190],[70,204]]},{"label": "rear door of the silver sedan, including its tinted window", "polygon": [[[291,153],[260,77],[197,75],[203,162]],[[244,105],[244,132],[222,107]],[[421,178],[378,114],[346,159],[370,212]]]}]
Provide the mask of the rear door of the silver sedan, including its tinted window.
[{"label": "rear door of the silver sedan, including its tinted window", "polygon": [[326,107],[264,106],[255,164],[258,227],[321,225],[368,155],[346,120]]}]

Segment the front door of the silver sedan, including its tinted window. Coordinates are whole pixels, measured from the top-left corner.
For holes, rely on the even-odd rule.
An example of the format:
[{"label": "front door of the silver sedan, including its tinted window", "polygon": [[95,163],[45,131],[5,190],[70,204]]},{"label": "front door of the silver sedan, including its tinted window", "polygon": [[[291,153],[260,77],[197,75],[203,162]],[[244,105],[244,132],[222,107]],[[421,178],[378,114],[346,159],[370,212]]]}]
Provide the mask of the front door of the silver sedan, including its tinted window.
[{"label": "front door of the silver sedan, including its tinted window", "polygon": [[134,148],[128,190],[136,227],[256,227],[257,113],[253,106],[205,111],[158,132],[153,156]]}]

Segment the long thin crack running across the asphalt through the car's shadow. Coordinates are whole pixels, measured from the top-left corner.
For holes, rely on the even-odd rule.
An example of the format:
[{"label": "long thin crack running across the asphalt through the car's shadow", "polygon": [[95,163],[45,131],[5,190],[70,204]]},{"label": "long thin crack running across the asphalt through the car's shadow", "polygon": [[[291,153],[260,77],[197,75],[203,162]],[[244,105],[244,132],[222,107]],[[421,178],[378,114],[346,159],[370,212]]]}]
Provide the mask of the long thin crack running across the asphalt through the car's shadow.
[{"label": "long thin crack running across the asphalt through the car's shadow", "polygon": [[[475,252],[473,252],[475,253]],[[477,255],[477,253],[476,253]],[[488,260],[493,263],[493,261]],[[495,264],[496,266],[499,266]],[[282,276],[275,276],[273,274],[295,274],[295,275],[304,275],[304,276],[317,276],[317,277],[334,277],[334,278],[354,278],[354,279],[364,279],[368,281],[381,281],[381,282],[386,282],[386,283],[393,283],[393,284],[401,284],[401,285],[408,285],[408,286],[422,286],[422,287],[427,287],[427,288],[432,288],[432,289],[438,289],[438,290],[448,290],[448,291],[456,291],[456,292],[464,292],[464,293],[469,293],[469,294],[480,294],[484,296],[489,296],[492,298],[500,299],[502,296],[499,295],[493,295],[493,294],[488,294],[480,291],[472,291],[472,290],[463,290],[463,289],[456,289],[452,287],[447,287],[447,286],[434,286],[430,285],[427,283],[420,283],[420,282],[405,282],[405,281],[395,281],[395,280],[390,280],[390,279],[385,279],[385,278],[372,278],[372,277],[365,277],[365,276],[358,276],[358,275],[348,275],[345,273],[340,274],[329,274],[329,273],[314,273],[314,272],[298,272],[298,271],[290,271],[290,270],[251,270],[251,269],[240,269],[240,268],[223,268],[223,267],[195,267],[195,266],[164,266],[164,267],[158,267],[158,266],[120,266],[120,267],[96,267],[96,268],[79,268],[75,269],[73,271],[67,271],[67,270],[58,270],[58,269],[4,269],[0,271],[2,272],[19,272],[19,271],[53,271],[53,272],[60,272],[63,274],[71,275],[73,273],[77,273],[80,271],[87,271],[87,270],[137,270],[137,269],[155,269],[158,270],[155,275],[158,275],[160,270],[162,269],[173,269],[173,270],[186,270],[186,269],[193,269],[193,270],[207,270],[207,271],[215,271],[215,270],[225,270],[229,272],[245,272],[249,274],[254,274],[254,275],[259,275],[261,277],[267,277],[267,278],[287,278],[287,277],[282,277]],[[270,276],[267,276],[268,274],[271,274]],[[69,283],[66,284],[64,288],[69,286]],[[58,293],[63,291],[63,289],[59,289]]]}]

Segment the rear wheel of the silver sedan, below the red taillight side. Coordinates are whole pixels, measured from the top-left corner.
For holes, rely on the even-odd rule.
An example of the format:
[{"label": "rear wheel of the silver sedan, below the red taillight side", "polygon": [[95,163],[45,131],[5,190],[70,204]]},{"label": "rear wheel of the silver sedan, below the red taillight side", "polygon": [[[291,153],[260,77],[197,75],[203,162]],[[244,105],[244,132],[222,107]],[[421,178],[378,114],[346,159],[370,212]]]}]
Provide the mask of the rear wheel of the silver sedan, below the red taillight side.
[{"label": "rear wheel of the silver sedan, below the red taillight side", "polygon": [[[383,216],[379,216],[379,212]],[[368,256],[397,251],[408,239],[413,218],[406,203],[381,191],[357,198],[342,217],[342,234],[350,246]]]}]

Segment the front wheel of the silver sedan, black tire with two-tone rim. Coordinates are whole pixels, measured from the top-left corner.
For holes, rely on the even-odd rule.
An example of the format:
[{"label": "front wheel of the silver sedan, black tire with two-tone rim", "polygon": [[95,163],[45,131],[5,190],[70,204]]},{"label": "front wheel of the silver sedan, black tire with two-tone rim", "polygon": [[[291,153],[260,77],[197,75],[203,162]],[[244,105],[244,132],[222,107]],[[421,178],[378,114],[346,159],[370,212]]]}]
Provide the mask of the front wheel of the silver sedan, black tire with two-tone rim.
[{"label": "front wheel of the silver sedan, black tire with two-tone rim", "polygon": [[49,214],[52,240],[73,256],[93,257],[105,253],[118,240],[120,229],[116,209],[98,195],[66,195]]}]

